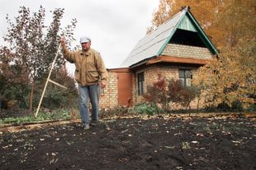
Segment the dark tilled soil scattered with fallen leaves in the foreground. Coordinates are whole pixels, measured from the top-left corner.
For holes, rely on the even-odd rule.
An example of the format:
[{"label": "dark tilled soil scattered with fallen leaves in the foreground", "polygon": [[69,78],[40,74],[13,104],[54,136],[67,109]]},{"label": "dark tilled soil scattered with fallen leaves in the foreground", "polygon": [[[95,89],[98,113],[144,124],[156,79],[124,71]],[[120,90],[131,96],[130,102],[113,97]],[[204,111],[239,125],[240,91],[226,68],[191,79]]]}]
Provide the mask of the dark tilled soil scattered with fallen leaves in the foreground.
[{"label": "dark tilled soil scattered with fallen leaves in the foreground", "polygon": [[0,135],[0,169],[256,169],[252,118],[102,120]]}]

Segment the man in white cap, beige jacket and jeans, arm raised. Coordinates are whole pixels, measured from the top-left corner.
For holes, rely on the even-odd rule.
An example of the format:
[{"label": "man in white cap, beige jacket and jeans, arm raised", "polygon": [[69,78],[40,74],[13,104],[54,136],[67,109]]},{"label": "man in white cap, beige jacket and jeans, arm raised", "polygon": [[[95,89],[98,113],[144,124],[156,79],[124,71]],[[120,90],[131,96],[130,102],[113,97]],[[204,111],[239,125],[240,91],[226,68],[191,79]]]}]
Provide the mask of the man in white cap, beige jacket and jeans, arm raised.
[{"label": "man in white cap, beige jacket and jeans, arm raised", "polygon": [[[101,54],[91,48],[91,38],[80,38],[82,50],[71,52],[66,48],[65,38],[60,39],[64,58],[75,64],[74,78],[78,82],[79,106],[84,130],[89,129],[88,97],[92,104],[91,125],[97,125],[99,116],[100,87],[106,87],[107,70]],[[99,84],[101,83],[101,84]]]}]

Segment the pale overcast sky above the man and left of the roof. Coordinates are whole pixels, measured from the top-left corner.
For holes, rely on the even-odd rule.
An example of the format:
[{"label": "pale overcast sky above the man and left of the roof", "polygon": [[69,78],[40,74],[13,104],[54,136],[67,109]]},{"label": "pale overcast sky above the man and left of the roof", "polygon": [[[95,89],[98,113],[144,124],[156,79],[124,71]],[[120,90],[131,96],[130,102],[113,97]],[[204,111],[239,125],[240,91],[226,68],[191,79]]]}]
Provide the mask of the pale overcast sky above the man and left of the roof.
[{"label": "pale overcast sky above the man and left of the roof", "polygon": [[47,24],[52,19],[50,11],[61,7],[64,8],[63,27],[73,18],[78,21],[74,44],[79,45],[80,36],[90,36],[92,48],[102,54],[106,67],[118,68],[145,36],[158,4],[159,0],[0,0],[0,45],[4,45],[2,36],[7,34],[7,14],[14,21],[19,7],[38,12],[42,5]]}]

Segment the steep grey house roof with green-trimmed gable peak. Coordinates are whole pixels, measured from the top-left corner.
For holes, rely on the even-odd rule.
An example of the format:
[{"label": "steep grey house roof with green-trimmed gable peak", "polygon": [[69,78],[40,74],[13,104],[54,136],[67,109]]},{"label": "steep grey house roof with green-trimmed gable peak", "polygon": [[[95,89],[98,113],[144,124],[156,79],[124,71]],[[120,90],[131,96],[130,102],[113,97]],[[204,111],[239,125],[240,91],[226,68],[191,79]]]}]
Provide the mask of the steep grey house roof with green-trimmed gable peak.
[{"label": "steep grey house roof with green-trimmed gable peak", "polygon": [[156,30],[145,35],[145,37],[135,45],[135,48],[131,50],[128,57],[121,64],[121,67],[140,65],[140,63],[145,63],[148,59],[159,57],[177,29],[198,32],[201,40],[203,40],[211,51],[211,54],[217,54],[216,47],[201,29],[195,17],[192,16],[189,7],[185,7],[170,20],[156,28]]}]

